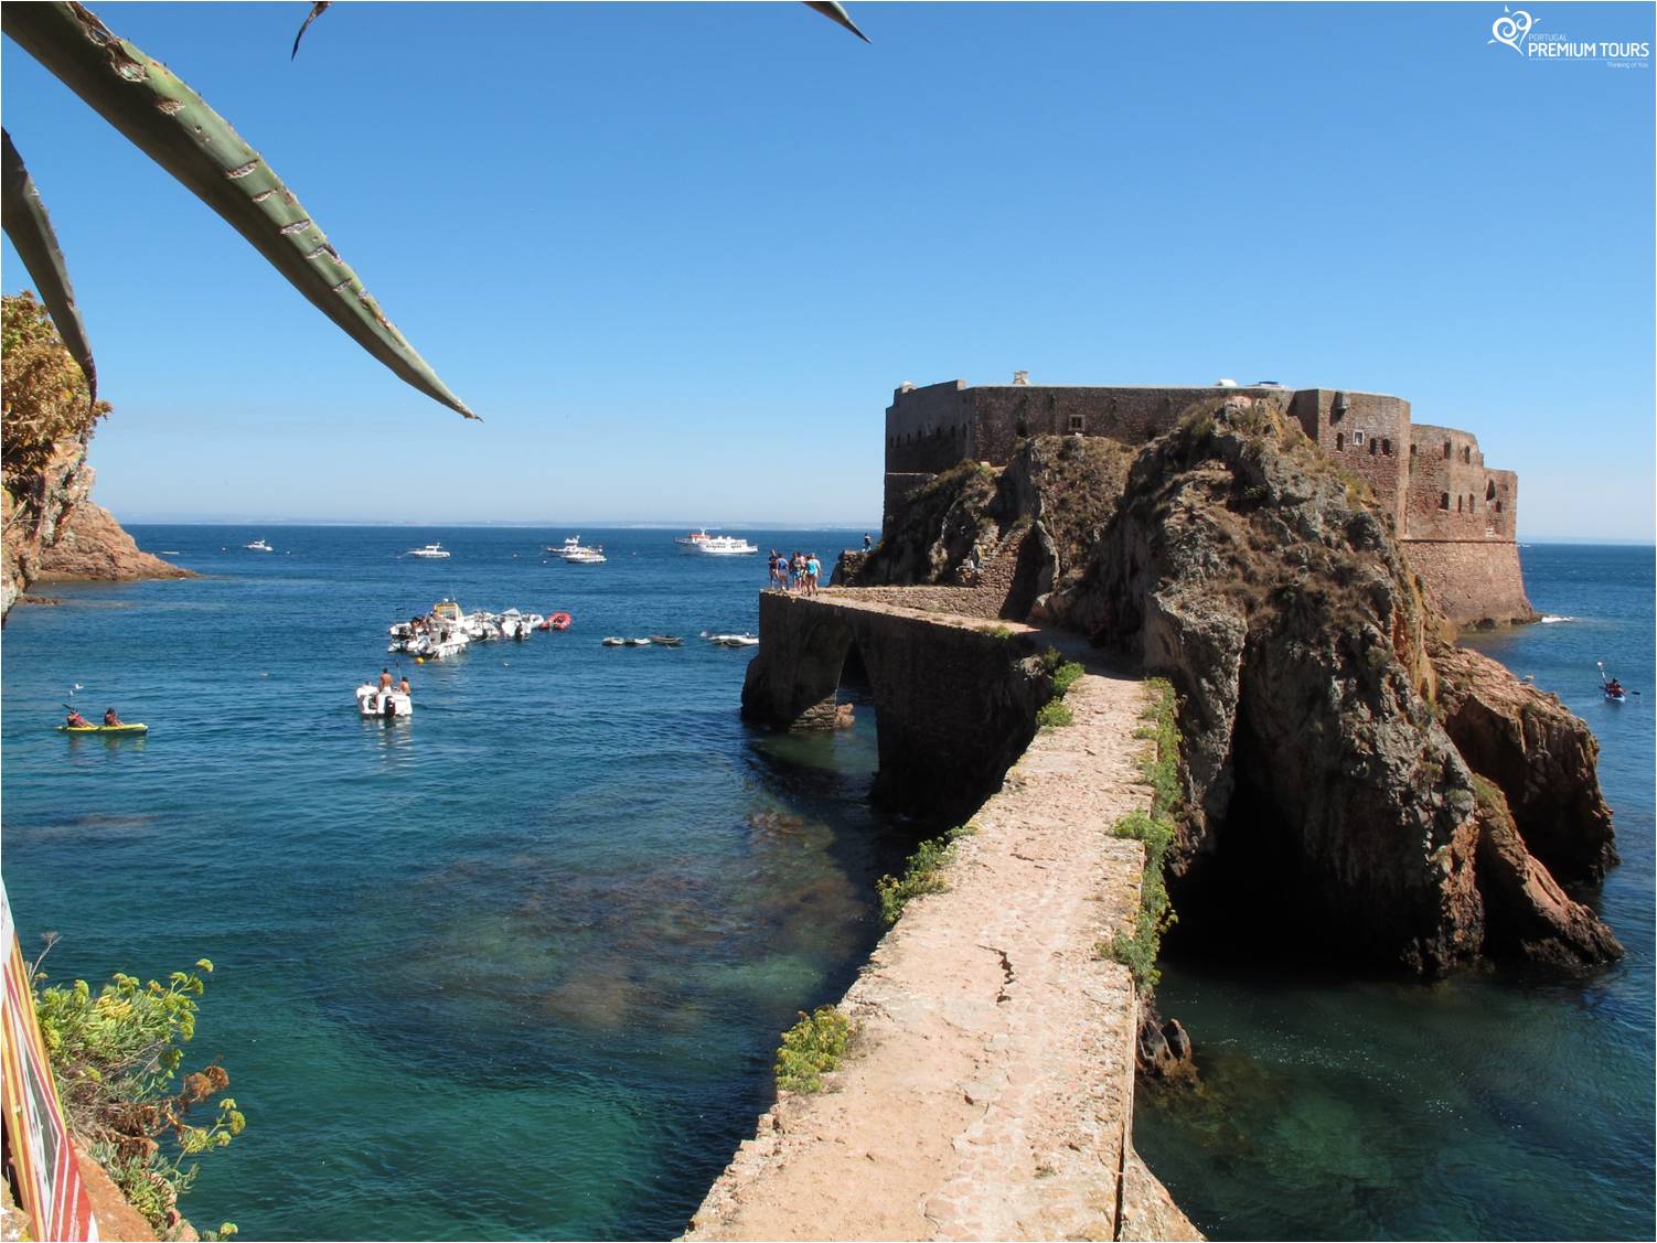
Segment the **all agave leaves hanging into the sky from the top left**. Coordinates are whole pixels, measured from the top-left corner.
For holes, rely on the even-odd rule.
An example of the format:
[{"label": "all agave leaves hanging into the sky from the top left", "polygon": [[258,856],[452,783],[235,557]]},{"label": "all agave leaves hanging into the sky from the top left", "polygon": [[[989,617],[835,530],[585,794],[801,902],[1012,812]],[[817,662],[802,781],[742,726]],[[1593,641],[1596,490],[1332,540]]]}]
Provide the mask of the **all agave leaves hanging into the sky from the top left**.
[{"label": "all agave leaves hanging into the sky from the top left", "polygon": [[[867,41],[838,3],[807,0],[807,5]],[[328,7],[328,0],[312,5],[293,40],[295,55],[307,27]],[[73,2],[8,3],[0,8],[0,30],[224,217],[370,355],[421,393],[469,419],[477,418],[386,318],[293,191],[166,65]],[[96,398],[91,346],[75,307],[63,252],[10,134],[5,134],[0,207],[7,235]]]}]

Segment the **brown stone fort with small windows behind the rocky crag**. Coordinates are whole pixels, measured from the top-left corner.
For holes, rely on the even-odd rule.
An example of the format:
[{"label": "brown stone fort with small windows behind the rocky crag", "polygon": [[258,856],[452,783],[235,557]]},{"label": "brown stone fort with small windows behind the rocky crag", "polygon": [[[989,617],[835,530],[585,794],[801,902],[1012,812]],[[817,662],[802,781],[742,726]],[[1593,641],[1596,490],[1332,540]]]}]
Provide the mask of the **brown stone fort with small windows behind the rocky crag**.
[{"label": "brown stone fort with small windows behind the rocky crag", "polygon": [[1485,466],[1478,438],[1410,421],[1384,393],[1231,385],[1191,388],[964,380],[900,386],[886,408],[885,520],[916,486],[963,459],[1006,466],[1024,436],[1109,436],[1143,444],[1200,403],[1268,401],[1364,479],[1433,602],[1458,625],[1529,622],[1514,540],[1518,476]]}]

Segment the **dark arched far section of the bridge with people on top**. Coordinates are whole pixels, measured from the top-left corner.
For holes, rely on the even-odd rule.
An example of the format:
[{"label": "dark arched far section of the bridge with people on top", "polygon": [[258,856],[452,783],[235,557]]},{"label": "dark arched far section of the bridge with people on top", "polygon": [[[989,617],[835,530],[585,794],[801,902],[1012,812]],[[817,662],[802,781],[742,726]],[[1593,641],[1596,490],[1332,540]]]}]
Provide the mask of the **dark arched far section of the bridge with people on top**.
[{"label": "dark arched far section of the bridge with people on top", "polygon": [[[906,812],[966,814],[1036,733],[1042,680],[1027,626],[923,613],[880,588],[762,592],[762,643],[742,714],[782,729],[832,728],[842,676],[875,701],[875,797]],[[901,598],[901,595],[898,595]]]}]

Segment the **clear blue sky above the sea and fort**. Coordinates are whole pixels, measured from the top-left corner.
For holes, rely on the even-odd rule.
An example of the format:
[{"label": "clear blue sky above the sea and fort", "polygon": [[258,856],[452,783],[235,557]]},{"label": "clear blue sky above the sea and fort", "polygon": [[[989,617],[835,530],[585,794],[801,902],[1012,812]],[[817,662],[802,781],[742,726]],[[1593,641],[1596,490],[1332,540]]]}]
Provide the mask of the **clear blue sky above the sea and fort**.
[{"label": "clear blue sky above the sea and fort", "polygon": [[[850,522],[891,389],[1407,396],[1519,535],[1650,539],[1654,78],[1500,3],[98,5],[300,194],[466,423],[10,41],[126,520]],[[1529,5],[1652,41],[1649,5]],[[5,249],[5,288],[27,285]]]}]

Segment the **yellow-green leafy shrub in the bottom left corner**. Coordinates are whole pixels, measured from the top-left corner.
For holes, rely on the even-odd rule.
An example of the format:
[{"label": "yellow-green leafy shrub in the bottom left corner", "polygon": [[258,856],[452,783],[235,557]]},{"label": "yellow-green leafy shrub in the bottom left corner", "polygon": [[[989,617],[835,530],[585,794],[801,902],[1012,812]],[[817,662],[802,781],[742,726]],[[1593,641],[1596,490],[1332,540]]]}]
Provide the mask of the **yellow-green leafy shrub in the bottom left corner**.
[{"label": "yellow-green leafy shrub in the bottom left corner", "polygon": [[[35,1003],[70,1129],[157,1230],[196,1182],[197,1162],[184,1162],[225,1147],[245,1125],[227,1095],[214,1102],[210,1124],[186,1120],[194,1105],[230,1086],[224,1067],[207,1066],[184,1076],[182,1087],[174,1084],[209,973],[205,958],[166,984],[116,973],[96,996],[76,979],[41,989]],[[235,1226],[225,1223],[217,1233],[227,1238]]]}]

